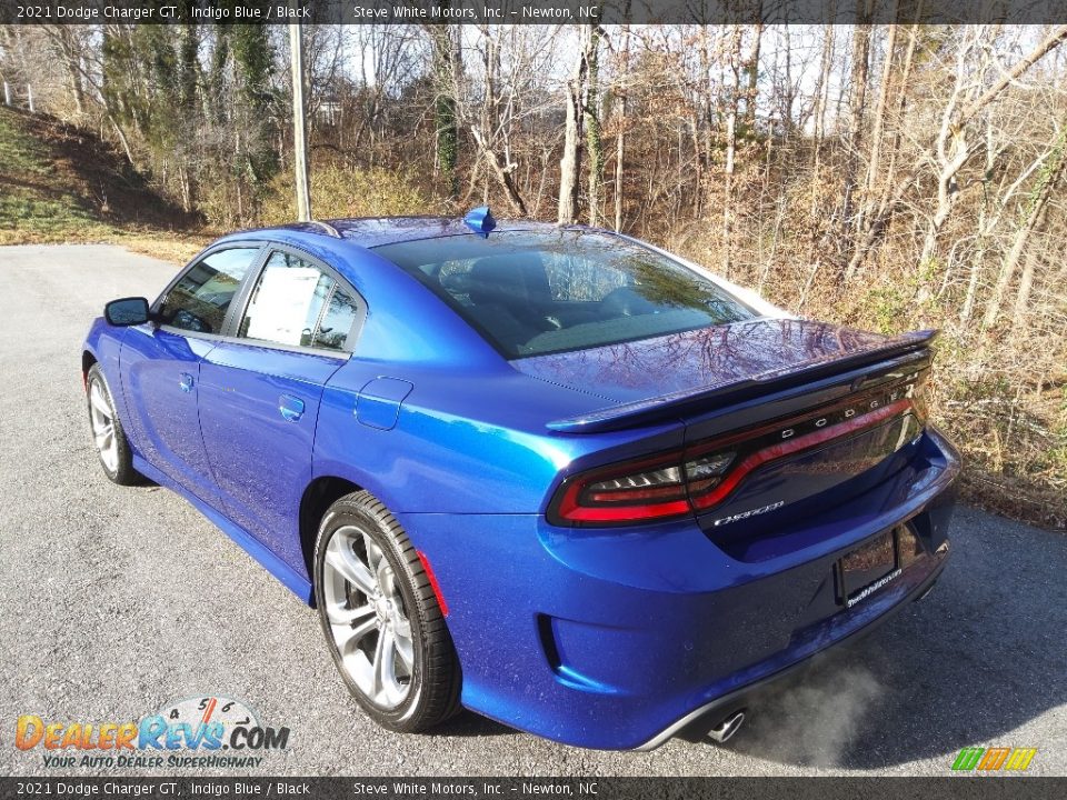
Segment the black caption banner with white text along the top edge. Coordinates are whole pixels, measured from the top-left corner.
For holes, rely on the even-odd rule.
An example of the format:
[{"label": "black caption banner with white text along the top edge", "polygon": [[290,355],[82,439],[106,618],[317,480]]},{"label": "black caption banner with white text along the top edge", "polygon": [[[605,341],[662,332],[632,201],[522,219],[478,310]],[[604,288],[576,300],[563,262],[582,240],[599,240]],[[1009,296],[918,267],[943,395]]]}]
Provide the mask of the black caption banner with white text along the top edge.
[{"label": "black caption banner with white text along the top edge", "polygon": [[8,24],[1067,23],[1067,0],[0,0]]}]

